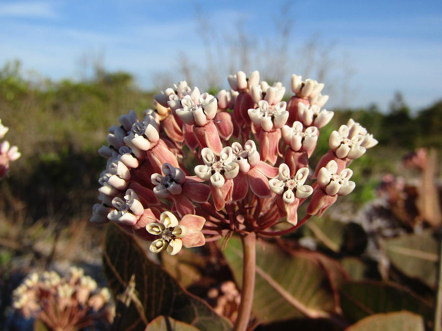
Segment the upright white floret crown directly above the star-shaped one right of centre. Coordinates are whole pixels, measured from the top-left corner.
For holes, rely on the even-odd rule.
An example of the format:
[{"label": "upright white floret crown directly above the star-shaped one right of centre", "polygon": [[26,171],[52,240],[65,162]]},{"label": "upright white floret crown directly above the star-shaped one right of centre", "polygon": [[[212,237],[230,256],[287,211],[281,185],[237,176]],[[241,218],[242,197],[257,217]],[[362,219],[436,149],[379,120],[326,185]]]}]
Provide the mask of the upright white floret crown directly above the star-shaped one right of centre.
[{"label": "upright white floret crown directly above the star-shaped one right of centre", "polygon": [[295,121],[292,127],[283,126],[281,133],[284,142],[290,145],[295,152],[301,149],[305,152],[312,151],[315,149],[316,142],[318,141],[318,128],[307,127],[304,130],[302,123],[298,121]]}]

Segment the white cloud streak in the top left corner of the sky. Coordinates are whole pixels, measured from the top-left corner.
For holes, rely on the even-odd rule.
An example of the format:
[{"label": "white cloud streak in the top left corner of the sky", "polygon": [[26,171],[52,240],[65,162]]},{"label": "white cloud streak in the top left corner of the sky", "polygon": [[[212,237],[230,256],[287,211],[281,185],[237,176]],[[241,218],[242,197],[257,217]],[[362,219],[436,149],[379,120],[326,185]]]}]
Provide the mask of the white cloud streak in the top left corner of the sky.
[{"label": "white cloud streak in the top left corner of the sky", "polygon": [[59,17],[54,4],[55,2],[49,1],[16,1],[0,3],[0,16],[54,19]]}]

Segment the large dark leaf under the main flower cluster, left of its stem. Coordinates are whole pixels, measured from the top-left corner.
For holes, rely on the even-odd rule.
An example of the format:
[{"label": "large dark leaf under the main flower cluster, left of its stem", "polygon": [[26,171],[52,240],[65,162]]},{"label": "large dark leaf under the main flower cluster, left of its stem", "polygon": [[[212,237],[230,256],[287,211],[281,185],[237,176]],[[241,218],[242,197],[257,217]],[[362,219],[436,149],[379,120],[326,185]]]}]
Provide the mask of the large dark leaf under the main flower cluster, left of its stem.
[{"label": "large dark leaf under the main flower cluster, left of its stem", "polygon": [[[130,329],[129,325],[120,324],[118,330],[144,330],[148,321],[160,315],[200,330],[231,329],[226,319],[188,293],[161,266],[150,261],[133,236],[113,224],[106,233],[103,266],[109,286],[119,299],[117,313],[122,318],[118,321],[131,322]],[[124,307],[129,311],[121,311]]]}]

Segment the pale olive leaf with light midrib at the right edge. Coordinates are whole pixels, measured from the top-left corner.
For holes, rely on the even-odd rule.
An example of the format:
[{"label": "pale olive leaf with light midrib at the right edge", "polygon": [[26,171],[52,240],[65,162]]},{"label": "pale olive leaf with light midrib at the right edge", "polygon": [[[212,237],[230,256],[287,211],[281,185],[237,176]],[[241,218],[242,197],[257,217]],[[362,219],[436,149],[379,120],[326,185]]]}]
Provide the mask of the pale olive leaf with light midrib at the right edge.
[{"label": "pale olive leaf with light midrib at the right edge", "polygon": [[432,231],[404,234],[385,240],[384,245],[387,256],[397,269],[430,287],[436,285],[438,242]]}]

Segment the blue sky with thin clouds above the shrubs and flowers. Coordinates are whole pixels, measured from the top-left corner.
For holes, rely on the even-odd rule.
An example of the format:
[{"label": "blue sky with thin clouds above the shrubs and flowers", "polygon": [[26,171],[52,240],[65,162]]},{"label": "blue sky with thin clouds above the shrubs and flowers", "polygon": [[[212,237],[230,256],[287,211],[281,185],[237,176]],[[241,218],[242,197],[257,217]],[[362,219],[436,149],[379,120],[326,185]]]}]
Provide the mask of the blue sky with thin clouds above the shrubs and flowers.
[{"label": "blue sky with thin clouds above the shrubs and flowers", "polygon": [[[330,108],[370,102],[385,108],[396,91],[413,109],[442,98],[440,0],[294,1],[285,14],[293,23],[287,45],[277,44],[283,1],[165,3],[0,0],[0,64],[18,58],[25,69],[43,76],[78,78],[79,59],[100,53],[106,68],[129,71],[142,87],[152,88],[161,85],[158,77],[180,80],[184,58],[204,65],[202,18],[214,32],[211,43],[224,43],[220,36],[234,38],[241,21],[249,42],[267,52],[254,54],[257,58],[275,58],[285,49],[289,58],[284,82],[292,73],[305,75],[310,60],[305,45],[316,40],[331,61],[329,66],[321,61],[313,65],[329,68],[329,90],[326,86],[324,92],[331,96]],[[219,75],[230,74],[225,71]],[[317,72],[310,71],[311,78]],[[226,79],[223,84],[227,87]]]}]

